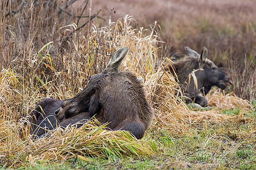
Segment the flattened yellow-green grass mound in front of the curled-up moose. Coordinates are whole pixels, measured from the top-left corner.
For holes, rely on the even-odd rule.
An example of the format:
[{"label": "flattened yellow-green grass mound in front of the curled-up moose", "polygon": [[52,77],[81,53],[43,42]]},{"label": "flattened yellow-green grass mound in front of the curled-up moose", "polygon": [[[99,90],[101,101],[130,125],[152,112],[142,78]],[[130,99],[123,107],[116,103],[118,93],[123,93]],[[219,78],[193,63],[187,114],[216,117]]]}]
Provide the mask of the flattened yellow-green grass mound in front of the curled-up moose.
[{"label": "flattened yellow-green grass mound in front of the curled-up moose", "polygon": [[36,164],[44,162],[58,162],[68,160],[75,155],[82,160],[86,157],[126,157],[151,155],[153,150],[149,141],[136,140],[125,131],[109,131],[104,129],[105,125],[97,127],[93,123],[86,123],[83,127],[76,129],[75,125],[65,130],[57,129],[49,138],[32,141],[18,141],[15,147],[15,157],[9,161],[14,164],[26,161]]}]

